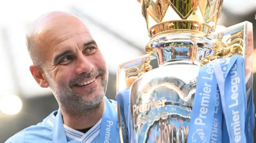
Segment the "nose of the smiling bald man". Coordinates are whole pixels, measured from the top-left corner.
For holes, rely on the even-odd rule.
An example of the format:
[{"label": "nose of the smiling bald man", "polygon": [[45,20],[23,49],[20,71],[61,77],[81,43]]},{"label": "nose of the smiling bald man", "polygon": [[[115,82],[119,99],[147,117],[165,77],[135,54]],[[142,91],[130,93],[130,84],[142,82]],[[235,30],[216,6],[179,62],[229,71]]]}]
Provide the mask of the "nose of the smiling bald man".
[{"label": "nose of the smiling bald man", "polygon": [[90,73],[93,69],[94,65],[88,60],[88,57],[84,56],[82,53],[79,54],[76,61],[76,74],[83,72]]}]

